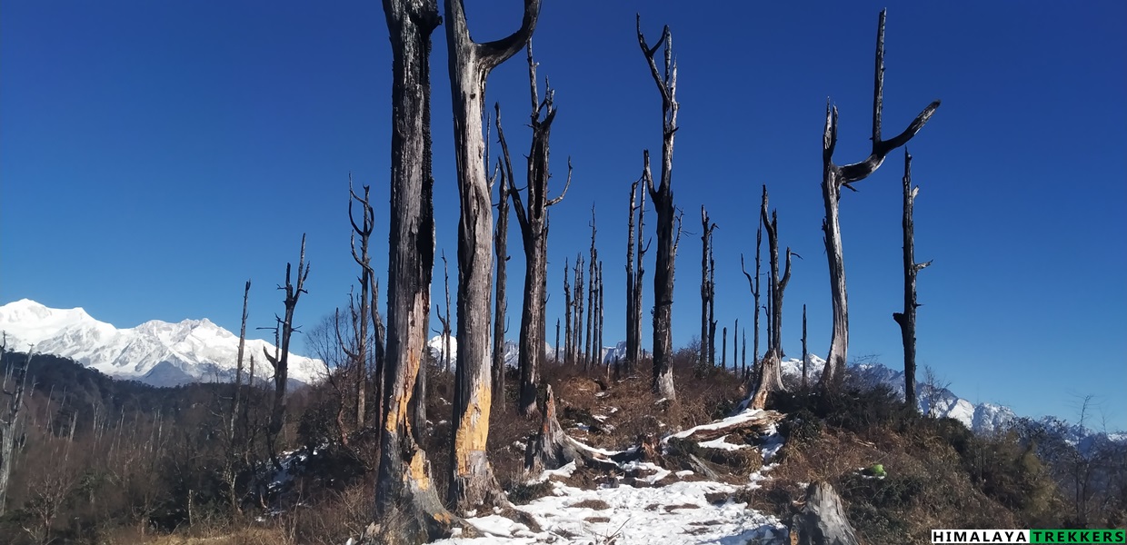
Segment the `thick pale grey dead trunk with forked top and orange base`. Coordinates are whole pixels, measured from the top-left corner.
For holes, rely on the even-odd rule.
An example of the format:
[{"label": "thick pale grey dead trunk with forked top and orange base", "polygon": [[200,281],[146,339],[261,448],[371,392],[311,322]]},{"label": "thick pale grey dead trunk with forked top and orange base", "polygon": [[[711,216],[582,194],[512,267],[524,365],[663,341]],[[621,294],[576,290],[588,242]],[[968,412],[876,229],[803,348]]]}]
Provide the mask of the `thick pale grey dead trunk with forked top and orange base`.
[{"label": "thick pale grey dead trunk with forked top and orange base", "polygon": [[[532,37],[540,0],[525,0],[521,27],[496,42],[470,37],[462,0],[445,10],[454,158],[461,214],[458,222],[458,369],[449,502],[456,511],[507,503],[486,457],[492,404],[489,375],[489,296],[492,280],[492,212],[482,134],[489,72]],[[543,347],[540,348],[543,350]]]}]

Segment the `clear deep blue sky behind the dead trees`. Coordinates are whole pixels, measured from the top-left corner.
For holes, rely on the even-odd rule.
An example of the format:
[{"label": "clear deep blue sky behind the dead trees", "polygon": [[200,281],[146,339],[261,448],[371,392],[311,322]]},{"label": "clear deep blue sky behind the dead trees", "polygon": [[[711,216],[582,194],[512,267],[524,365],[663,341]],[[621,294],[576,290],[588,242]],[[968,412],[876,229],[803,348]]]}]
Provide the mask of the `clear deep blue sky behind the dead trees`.
[{"label": "clear deep blue sky behind the dead trees", "polygon": [[[473,3],[479,41],[520,23],[515,0]],[[828,97],[841,109],[837,162],[863,158],[885,6],[544,3],[534,50],[540,77],[557,90],[556,190],[567,157],[575,164],[567,198],[552,208],[549,339],[562,315],[564,260],[586,251],[593,203],[605,338],[623,338],[622,212],[641,150],[660,146],[659,97],[635,38],[641,12],[651,43],[663,24],[672,27],[680,62],[673,184],[689,232],[677,259],[674,343],[699,331],[702,204],[719,224],[720,327],[737,318],[751,327],[739,252],[754,252],[767,184],[781,244],[805,258],[786,294],[784,348],[800,350],[806,304],[811,351],[824,356],[824,108]],[[916,256],[934,259],[919,280],[920,364],[960,395],[1020,414],[1074,417],[1077,396],[1094,394],[1108,426],[1127,428],[1127,5],[888,8],[885,133],[943,100],[909,144],[922,187]],[[390,75],[378,2],[5,2],[0,303],[82,306],[117,327],[206,316],[237,330],[242,283],[251,278],[251,325],[269,325],[282,309],[274,287],[308,233],[312,274],[296,321],[314,324],[355,283],[349,172],[372,186],[373,253],[385,270]],[[432,75],[437,245],[453,266],[458,194],[442,29]],[[502,102],[517,172],[527,97],[518,55],[495,71],[487,92],[489,105]],[[902,157],[841,205],[850,355],[878,355],[890,367],[903,365],[891,320],[903,301]],[[509,248],[515,334],[516,236]],[[435,277],[438,302],[441,270]],[[648,307],[653,275],[646,280]]]}]

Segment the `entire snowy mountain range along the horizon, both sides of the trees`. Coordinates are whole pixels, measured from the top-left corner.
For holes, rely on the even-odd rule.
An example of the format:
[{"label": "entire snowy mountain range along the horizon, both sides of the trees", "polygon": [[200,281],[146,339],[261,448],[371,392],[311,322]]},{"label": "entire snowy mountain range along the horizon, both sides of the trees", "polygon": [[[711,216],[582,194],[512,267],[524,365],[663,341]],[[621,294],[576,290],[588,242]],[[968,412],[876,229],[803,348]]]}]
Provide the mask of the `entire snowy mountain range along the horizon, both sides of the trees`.
[{"label": "entire snowy mountain range along the horizon, both sides of the trees", "polygon": [[[135,328],[117,329],[98,321],[82,309],[50,309],[30,300],[20,300],[0,306],[0,332],[6,336],[9,349],[53,354],[71,358],[115,378],[135,379],[154,386],[175,386],[189,382],[230,381],[234,375],[239,338],[215,325],[207,319],[184,320],[168,323],[159,320],[144,322]],[[444,337],[427,341],[431,355],[442,365]],[[458,339],[450,339],[451,366],[458,359]],[[273,343],[247,339],[246,358],[256,357],[256,375],[268,377],[270,369],[263,351],[275,352]],[[554,349],[544,343],[549,360]],[[601,360],[613,363],[625,354],[625,342],[603,347]],[[505,343],[505,363],[516,367],[518,346]],[[817,381],[825,365],[818,356],[807,356],[809,379]],[[782,361],[782,373],[789,383],[801,376],[801,360]],[[850,367],[850,377],[863,386],[885,385],[904,395],[904,373],[879,364]],[[290,378],[310,384],[323,376],[325,365],[319,359],[290,355]],[[917,384],[919,409],[962,422],[977,432],[1004,429],[1018,419],[1006,406],[993,403],[971,403],[950,390],[938,385]],[[1051,419],[1051,417],[1049,417]],[[1077,438],[1088,430],[1077,430]],[[1117,436],[1118,437],[1118,436]]]}]

